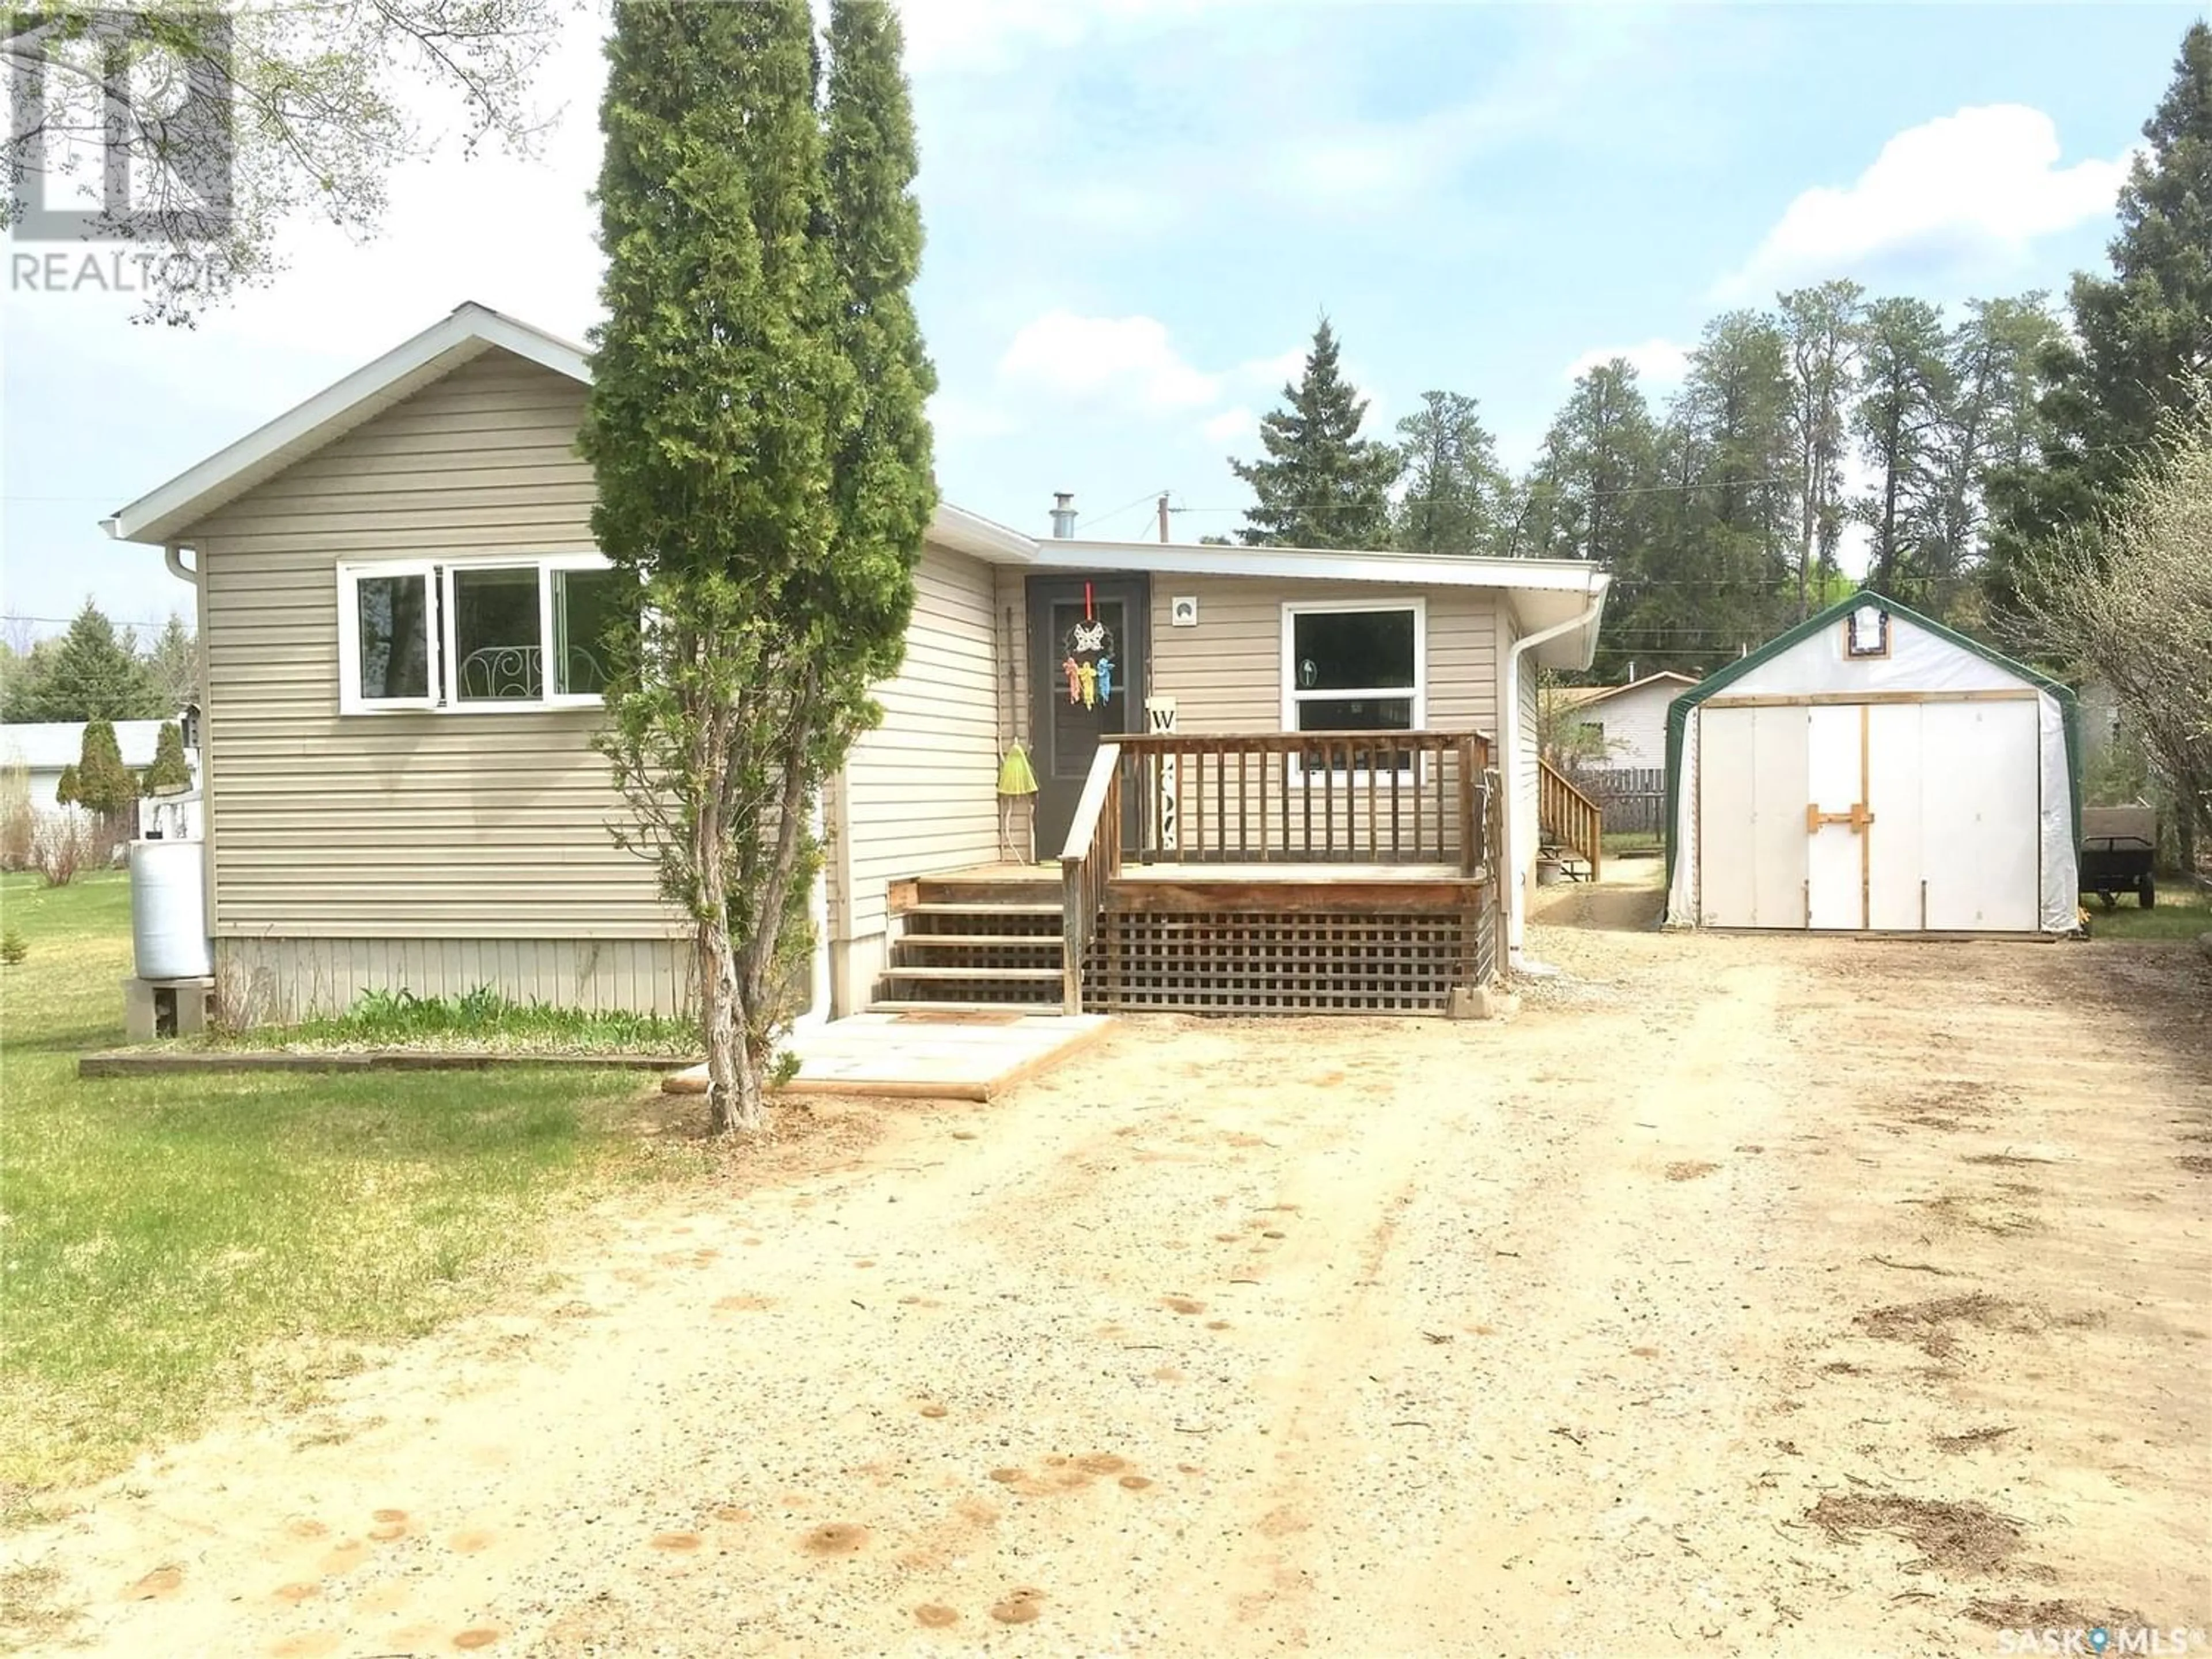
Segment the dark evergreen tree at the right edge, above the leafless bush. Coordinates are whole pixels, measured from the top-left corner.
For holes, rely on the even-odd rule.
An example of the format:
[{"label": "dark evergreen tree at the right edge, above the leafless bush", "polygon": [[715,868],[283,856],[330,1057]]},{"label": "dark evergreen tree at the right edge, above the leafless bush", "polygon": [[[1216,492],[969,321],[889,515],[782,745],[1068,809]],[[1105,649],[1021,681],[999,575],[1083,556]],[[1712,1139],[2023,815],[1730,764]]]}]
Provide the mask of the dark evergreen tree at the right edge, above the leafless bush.
[{"label": "dark evergreen tree at the right edge, above the leafless bush", "polygon": [[2093,529],[2157,447],[2159,422],[2190,407],[2192,376],[2212,372],[2212,24],[2181,38],[2143,137],[2119,188],[2112,274],[2073,279],[2073,338],[2042,354],[2039,465],[2002,471],[1991,491],[1984,580],[2000,608],[2017,606],[2024,555]]}]

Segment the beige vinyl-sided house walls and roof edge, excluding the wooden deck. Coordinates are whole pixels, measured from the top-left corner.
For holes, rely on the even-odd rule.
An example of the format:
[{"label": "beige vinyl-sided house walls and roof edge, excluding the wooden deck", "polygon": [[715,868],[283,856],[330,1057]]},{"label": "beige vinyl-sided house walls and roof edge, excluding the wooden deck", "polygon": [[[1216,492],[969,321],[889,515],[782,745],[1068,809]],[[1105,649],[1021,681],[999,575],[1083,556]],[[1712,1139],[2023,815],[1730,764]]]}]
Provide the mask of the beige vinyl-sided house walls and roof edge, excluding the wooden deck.
[{"label": "beige vinyl-sided house walls and roof edge, excluding the wooden deck", "polygon": [[[462,305],[108,520],[199,586],[208,931],[248,1013],[478,984],[688,1006],[684,920],[615,845],[624,805],[593,750],[595,664],[575,617],[611,588],[593,586],[608,577],[575,453],[586,385],[577,347]],[[1533,732],[1498,730],[1498,677],[1540,628],[1557,635],[1546,661],[1586,664],[1606,580],[1544,562],[1029,538],[940,507],[883,726],[818,805],[812,1018],[883,995],[900,891],[1004,858],[1000,757],[1035,745],[1040,708],[1068,717],[1037,699],[1060,648],[1035,637],[1035,606],[1088,604],[1093,584],[1133,613],[1119,684],[1082,712],[1104,721],[1091,748],[1137,730],[1146,697],[1175,699],[1183,732],[1298,730],[1296,617],[1413,613],[1387,633],[1416,641],[1418,686],[1389,681],[1402,690],[1387,706],[1498,737],[1533,801]],[[1197,599],[1194,622],[1177,599]],[[1018,816],[1015,845],[1026,832]],[[1515,841],[1513,863],[1533,860],[1533,832]]]}]

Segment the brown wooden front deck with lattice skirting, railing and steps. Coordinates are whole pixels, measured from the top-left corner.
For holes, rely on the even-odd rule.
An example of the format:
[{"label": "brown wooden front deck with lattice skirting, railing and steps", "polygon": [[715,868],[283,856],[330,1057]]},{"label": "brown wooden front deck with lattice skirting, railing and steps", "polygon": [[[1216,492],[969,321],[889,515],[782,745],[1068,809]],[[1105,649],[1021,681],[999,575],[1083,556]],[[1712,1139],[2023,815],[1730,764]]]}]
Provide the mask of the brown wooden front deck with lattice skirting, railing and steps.
[{"label": "brown wooden front deck with lattice skirting, railing and steps", "polygon": [[1115,737],[1057,865],[894,883],[887,978],[984,1004],[1057,978],[1066,1013],[1442,1013],[1498,967],[1489,754],[1480,732]]}]

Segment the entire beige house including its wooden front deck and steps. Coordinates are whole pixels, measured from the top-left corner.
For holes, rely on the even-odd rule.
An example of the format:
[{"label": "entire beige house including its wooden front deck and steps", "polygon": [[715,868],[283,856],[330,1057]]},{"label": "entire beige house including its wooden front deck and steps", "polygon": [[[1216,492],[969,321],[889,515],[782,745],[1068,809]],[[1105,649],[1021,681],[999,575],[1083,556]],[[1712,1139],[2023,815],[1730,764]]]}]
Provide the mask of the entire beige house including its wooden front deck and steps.
[{"label": "entire beige house including its wooden front deck and steps", "polygon": [[[580,347],[462,305],[106,520],[199,591],[208,933],[243,1006],[688,1006],[686,925],[608,836],[591,745],[619,595],[586,383]],[[1517,942],[1537,668],[1588,666],[1604,573],[940,507],[916,586],[821,801],[812,1018],[1440,1009]],[[1009,814],[1013,743],[1037,792]]]}]

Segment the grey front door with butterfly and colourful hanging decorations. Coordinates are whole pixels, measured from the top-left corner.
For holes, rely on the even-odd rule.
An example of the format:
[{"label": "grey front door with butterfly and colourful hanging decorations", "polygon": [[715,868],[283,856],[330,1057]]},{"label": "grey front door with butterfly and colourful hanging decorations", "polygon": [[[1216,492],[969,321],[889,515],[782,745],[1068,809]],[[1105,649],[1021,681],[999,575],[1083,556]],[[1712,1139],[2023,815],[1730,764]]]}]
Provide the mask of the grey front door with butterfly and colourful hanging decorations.
[{"label": "grey front door with butterfly and colourful hanging decorations", "polygon": [[[1091,757],[1108,732],[1144,730],[1144,577],[1029,577],[1029,732],[1037,770],[1037,856],[1066,845]],[[1137,796],[1124,790],[1126,834]]]}]

